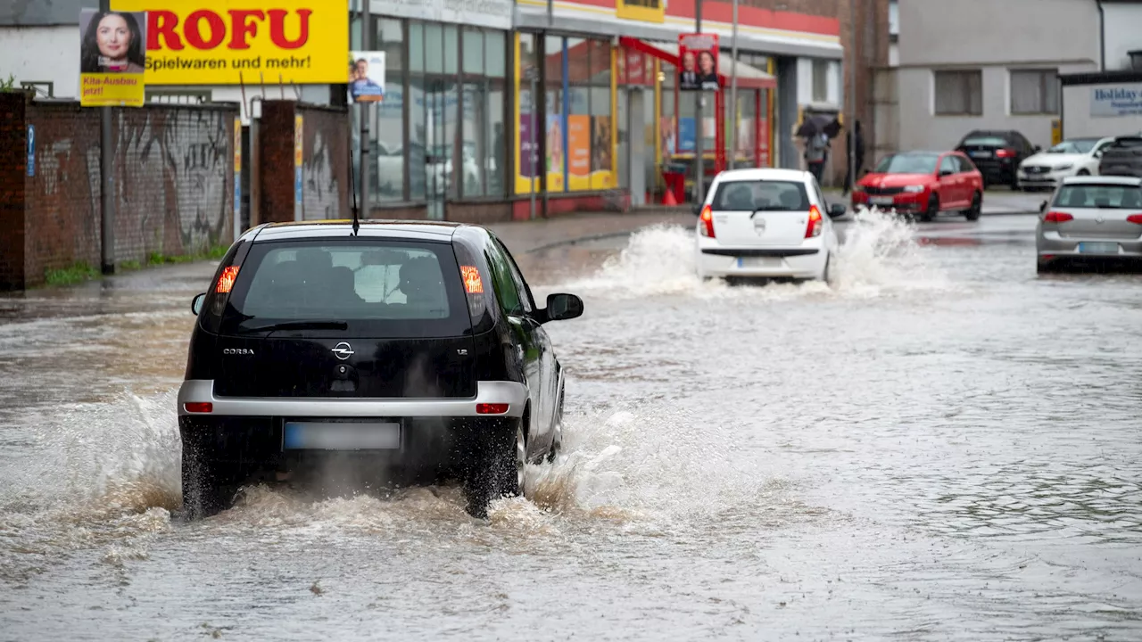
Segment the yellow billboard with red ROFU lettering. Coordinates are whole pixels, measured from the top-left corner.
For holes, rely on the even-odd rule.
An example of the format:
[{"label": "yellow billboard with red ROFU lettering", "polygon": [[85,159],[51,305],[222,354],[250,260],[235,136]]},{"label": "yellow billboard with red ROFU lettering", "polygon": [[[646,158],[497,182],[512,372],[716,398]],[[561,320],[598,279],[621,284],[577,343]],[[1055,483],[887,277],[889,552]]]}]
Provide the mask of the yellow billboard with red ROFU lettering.
[{"label": "yellow billboard with red ROFU lettering", "polygon": [[344,83],[348,0],[112,0],[147,11],[146,85]]}]

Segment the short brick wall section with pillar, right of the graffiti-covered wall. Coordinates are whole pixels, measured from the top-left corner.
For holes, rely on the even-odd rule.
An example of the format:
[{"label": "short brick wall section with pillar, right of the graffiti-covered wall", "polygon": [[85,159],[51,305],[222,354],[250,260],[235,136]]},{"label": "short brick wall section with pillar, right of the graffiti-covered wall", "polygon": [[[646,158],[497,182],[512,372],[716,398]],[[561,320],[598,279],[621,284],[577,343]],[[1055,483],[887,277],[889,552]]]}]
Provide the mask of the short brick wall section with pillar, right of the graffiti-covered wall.
[{"label": "short brick wall section with pillar, right of the graffiti-covered wall", "polygon": [[303,220],[348,218],[349,117],[345,107],[266,101],[259,119],[262,198],[259,220],[295,220],[295,117],[301,117]]}]

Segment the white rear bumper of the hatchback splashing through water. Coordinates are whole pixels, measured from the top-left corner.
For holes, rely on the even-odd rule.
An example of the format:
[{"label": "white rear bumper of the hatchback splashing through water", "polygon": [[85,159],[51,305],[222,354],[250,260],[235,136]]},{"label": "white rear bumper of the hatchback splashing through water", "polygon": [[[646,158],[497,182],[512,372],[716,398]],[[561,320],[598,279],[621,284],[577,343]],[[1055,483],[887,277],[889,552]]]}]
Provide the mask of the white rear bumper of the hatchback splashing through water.
[{"label": "white rear bumper of the hatchback splashing through water", "polygon": [[698,272],[702,276],[817,279],[825,271],[828,251],[820,247],[726,248],[699,247]]}]

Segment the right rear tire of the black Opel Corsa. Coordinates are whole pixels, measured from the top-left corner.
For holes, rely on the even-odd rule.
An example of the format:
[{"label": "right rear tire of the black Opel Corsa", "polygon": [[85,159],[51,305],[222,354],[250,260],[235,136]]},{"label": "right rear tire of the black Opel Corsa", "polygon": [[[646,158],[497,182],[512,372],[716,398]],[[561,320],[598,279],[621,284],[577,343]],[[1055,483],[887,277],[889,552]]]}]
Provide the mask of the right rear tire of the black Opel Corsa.
[{"label": "right rear tire of the black Opel Corsa", "polygon": [[474,448],[465,475],[466,511],[476,519],[488,517],[488,505],[501,497],[516,497],[524,491],[526,417],[488,431]]}]

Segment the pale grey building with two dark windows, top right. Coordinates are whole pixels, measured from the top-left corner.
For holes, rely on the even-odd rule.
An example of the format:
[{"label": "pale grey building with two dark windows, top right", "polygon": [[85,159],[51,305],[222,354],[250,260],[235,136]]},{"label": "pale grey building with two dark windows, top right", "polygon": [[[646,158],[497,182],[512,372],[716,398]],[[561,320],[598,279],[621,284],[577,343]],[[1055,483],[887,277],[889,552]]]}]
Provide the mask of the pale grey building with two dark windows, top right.
[{"label": "pale grey building with two dark windows, top right", "polygon": [[[973,129],[1015,129],[1044,147],[1060,131],[1140,129],[1142,117],[1128,113],[1091,121],[1096,78],[1067,85],[1065,99],[1059,79],[1118,72],[1102,85],[1129,81],[1128,53],[1142,49],[1140,0],[899,0],[899,21],[900,149],[949,149]],[[1085,115],[1071,125],[1060,122],[1064,112]]]}]

